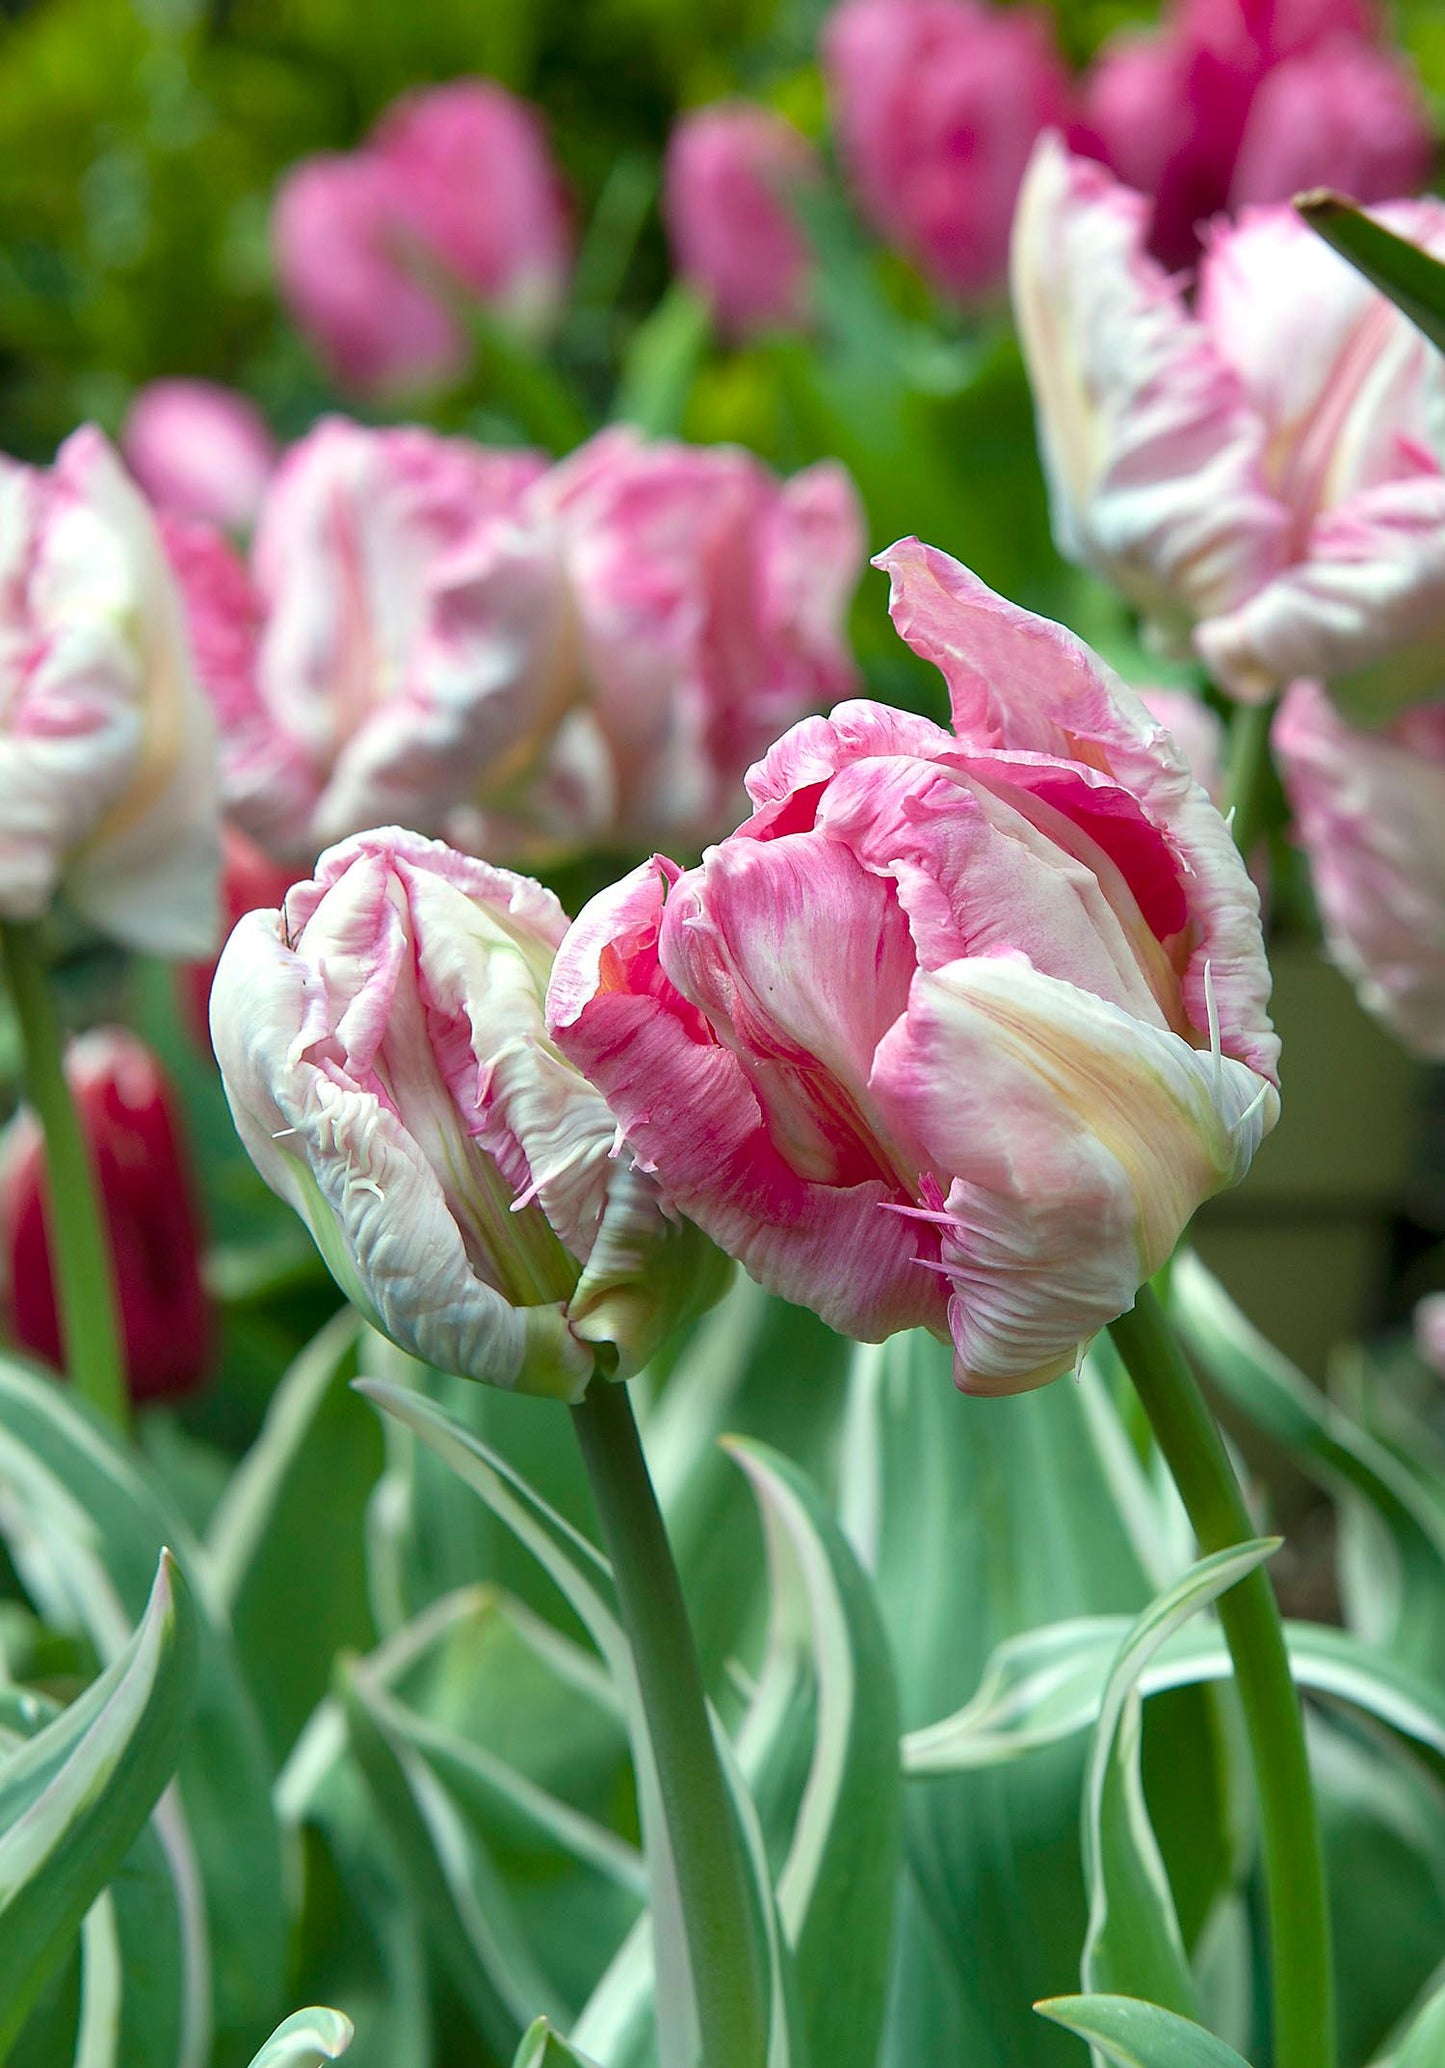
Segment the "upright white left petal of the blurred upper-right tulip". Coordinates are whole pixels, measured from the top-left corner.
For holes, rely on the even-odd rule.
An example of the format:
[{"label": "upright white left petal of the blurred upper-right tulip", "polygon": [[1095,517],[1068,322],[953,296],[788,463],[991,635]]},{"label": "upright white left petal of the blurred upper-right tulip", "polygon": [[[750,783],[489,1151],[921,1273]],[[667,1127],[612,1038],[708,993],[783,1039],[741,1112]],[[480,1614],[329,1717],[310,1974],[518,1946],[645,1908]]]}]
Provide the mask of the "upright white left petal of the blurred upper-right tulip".
[{"label": "upright white left petal of the blurred upper-right tulip", "polygon": [[1244,389],[1145,252],[1147,205],[1046,136],[1013,223],[1013,306],[1054,536],[1182,639],[1286,560]]}]

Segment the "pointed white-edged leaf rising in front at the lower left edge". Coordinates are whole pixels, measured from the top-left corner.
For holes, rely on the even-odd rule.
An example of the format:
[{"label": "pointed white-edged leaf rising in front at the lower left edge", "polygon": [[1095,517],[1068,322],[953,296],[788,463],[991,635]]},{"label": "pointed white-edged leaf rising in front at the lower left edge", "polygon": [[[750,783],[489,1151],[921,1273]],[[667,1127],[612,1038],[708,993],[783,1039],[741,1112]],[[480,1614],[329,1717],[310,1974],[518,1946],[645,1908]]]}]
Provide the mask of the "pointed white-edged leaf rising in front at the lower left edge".
[{"label": "pointed white-edged leaf rising in front at the lower left edge", "polygon": [[167,1785],[194,1677],[196,1615],[163,1551],[120,1656],[0,1766],[0,2058]]}]

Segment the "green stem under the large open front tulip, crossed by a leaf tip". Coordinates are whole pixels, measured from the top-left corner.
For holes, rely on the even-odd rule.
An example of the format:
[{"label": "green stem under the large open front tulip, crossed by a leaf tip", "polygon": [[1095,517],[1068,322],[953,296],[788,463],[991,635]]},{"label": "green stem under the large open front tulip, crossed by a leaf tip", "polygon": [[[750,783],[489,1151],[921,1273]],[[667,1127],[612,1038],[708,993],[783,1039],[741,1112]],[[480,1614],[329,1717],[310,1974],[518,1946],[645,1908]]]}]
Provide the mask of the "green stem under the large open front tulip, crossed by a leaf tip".
[{"label": "green stem under the large open front tulip, crossed by a leaf tip", "polygon": [[[1234,1466],[1151,1286],[1110,1328],[1174,1474],[1201,1553],[1257,1534]],[[1269,1574],[1220,1596],[1220,1623],[1255,1764],[1273,1977],[1273,2068],[1333,2068],[1335,2010],[1325,1857],[1304,1714]]]}]

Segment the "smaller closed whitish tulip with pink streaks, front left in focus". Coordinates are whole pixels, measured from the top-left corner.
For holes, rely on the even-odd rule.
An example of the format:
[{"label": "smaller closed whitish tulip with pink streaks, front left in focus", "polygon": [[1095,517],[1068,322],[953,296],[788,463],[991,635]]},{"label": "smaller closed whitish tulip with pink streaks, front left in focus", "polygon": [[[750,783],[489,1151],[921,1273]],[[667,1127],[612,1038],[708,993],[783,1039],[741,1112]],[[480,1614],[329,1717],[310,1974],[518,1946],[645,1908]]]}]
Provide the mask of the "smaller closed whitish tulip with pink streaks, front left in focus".
[{"label": "smaller closed whitish tulip with pink streaks, front left in focus", "polygon": [[579,1400],[709,1307],[726,1264],[546,1034],[564,933],[527,877],[364,833],[238,924],[211,1036],[256,1168],[376,1328],[442,1371]]}]

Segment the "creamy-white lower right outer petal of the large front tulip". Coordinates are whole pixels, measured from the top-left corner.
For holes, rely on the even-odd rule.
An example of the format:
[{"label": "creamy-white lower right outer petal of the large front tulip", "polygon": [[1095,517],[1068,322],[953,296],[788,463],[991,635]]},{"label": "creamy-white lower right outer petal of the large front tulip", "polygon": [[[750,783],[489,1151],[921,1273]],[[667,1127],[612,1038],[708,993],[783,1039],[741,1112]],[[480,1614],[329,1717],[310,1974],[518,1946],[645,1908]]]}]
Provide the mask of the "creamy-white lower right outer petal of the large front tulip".
[{"label": "creamy-white lower right outer petal of the large front tulip", "polygon": [[1067,1371],[1195,1208],[1249,1168],[1278,1094],[1023,957],[920,970],[870,1092],[951,1175],[941,1261],[955,1377]]}]

